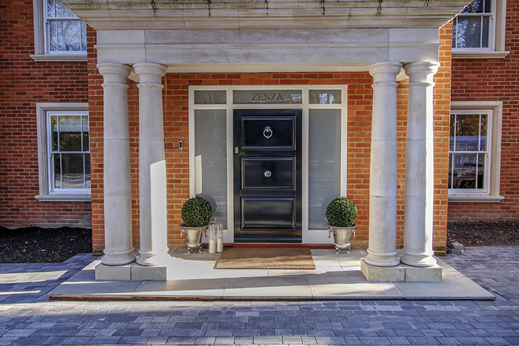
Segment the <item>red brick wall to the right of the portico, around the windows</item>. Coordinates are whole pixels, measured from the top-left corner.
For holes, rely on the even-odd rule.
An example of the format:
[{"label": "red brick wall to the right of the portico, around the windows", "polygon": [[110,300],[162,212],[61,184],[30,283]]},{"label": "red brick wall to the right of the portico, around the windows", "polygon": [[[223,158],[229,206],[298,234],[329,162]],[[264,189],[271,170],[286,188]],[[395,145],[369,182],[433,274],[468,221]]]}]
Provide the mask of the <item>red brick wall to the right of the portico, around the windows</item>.
[{"label": "red brick wall to the right of the portico, around the windows", "polygon": [[448,219],[519,219],[519,2],[507,1],[503,59],[454,59],[453,101],[502,101],[499,203],[449,203]]}]

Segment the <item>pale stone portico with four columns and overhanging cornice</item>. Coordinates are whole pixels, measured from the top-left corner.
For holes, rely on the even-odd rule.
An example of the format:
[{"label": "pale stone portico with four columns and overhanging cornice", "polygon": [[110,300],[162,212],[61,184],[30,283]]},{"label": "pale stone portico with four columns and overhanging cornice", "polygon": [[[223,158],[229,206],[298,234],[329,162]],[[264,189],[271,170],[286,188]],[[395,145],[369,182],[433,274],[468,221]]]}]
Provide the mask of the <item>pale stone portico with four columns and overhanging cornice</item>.
[{"label": "pale stone portico with four columns and overhanging cornice", "polygon": [[[369,281],[401,282],[406,270],[422,268],[424,281],[441,280],[432,257],[432,78],[439,67],[439,28],[466,3],[66,1],[97,31],[104,81],[105,255],[100,277],[120,278],[123,270],[130,280],[135,270],[138,280],[145,280],[147,267],[150,278],[157,272],[163,280],[174,275],[158,269],[166,268],[169,257],[164,75],[368,71],[373,80],[370,216],[362,273]],[[138,81],[139,93],[138,257],[131,245],[128,78]],[[409,83],[404,248],[399,257],[397,81],[404,78]]]}]

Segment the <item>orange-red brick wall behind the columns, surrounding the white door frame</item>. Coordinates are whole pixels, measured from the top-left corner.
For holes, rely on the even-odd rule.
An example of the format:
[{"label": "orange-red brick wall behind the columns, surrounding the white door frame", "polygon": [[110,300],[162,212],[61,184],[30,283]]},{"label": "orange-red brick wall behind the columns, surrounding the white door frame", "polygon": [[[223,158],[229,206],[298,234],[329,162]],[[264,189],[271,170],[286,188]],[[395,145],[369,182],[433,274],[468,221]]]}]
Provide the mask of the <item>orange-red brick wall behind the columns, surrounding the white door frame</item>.
[{"label": "orange-red brick wall behind the columns, surrounding the white door frame", "polygon": [[[450,34],[448,34],[450,35]],[[444,58],[450,59],[450,48]],[[89,87],[92,135],[92,210],[93,248],[104,247],[102,206],[102,78],[95,69],[95,60],[89,60]],[[437,74],[435,103],[439,110],[435,124],[448,134],[450,65],[441,67]],[[407,87],[401,83],[399,93],[399,216],[398,243],[403,245],[403,188],[405,173]],[[188,73],[167,74],[163,79],[165,147],[167,163],[168,246],[184,246],[179,237],[180,210],[189,198],[188,167],[188,86],[190,85],[286,85],[286,84],[345,84],[348,86],[348,197],[359,209],[354,246],[367,247],[369,219],[370,141],[372,111],[372,78],[368,73]],[[132,215],[134,246],[138,246],[138,90],[129,81],[129,120],[132,182]],[[173,149],[179,140],[184,149]],[[441,155],[436,163],[445,165],[448,157],[448,139],[437,142]],[[435,249],[441,253],[446,242],[446,167],[438,167],[435,193]],[[443,175],[442,175],[443,174]],[[443,180],[442,180],[443,179]]]}]

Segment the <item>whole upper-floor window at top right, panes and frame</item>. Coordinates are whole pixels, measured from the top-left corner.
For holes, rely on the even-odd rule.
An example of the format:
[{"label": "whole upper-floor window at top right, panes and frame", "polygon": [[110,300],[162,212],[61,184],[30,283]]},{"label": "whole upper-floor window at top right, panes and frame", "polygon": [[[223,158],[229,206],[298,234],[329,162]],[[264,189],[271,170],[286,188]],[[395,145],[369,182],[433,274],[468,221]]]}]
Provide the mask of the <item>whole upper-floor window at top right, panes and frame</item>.
[{"label": "whole upper-floor window at top right, panes and frame", "polygon": [[453,19],[453,58],[505,57],[506,0],[474,0]]}]

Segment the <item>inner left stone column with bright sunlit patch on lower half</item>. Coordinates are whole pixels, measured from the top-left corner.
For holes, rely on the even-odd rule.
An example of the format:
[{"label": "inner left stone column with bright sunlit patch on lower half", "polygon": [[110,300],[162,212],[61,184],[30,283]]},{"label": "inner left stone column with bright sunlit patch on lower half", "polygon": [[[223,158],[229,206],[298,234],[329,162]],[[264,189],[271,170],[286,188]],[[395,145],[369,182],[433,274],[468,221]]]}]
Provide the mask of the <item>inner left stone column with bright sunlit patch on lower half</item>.
[{"label": "inner left stone column with bright sunlit patch on lower half", "polygon": [[[139,84],[139,213],[137,263],[154,266],[167,258],[166,166],[161,79],[166,67],[134,64]],[[153,194],[152,194],[153,188]],[[153,207],[153,208],[152,208]]]}]

